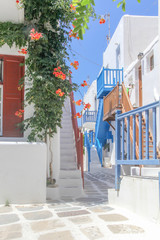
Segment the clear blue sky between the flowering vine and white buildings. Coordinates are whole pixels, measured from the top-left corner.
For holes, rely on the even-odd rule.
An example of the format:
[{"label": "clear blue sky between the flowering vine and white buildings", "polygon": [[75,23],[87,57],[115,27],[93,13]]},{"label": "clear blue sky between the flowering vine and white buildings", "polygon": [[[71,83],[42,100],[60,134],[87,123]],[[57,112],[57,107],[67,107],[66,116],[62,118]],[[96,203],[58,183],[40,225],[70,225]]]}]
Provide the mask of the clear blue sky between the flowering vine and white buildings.
[{"label": "clear blue sky between the flowering vine and white buildings", "polygon": [[[97,14],[104,16],[110,13],[111,37],[124,14],[129,15],[158,15],[158,0],[126,0],[126,12],[123,12],[121,7],[117,8],[117,3],[120,0],[113,2],[112,0],[95,0],[95,11]],[[78,70],[74,70],[72,74],[72,81],[81,84],[89,77],[89,83],[97,78],[97,75],[102,66],[103,52],[107,47],[106,36],[108,34],[108,23],[99,24],[99,20],[90,21],[89,30],[84,34],[83,40],[73,39],[71,48],[75,56],[71,56],[71,60],[79,62]],[[82,96],[87,91],[87,87],[80,88],[81,94],[76,92],[75,100],[82,99]],[[77,111],[80,111],[77,107]]]}]

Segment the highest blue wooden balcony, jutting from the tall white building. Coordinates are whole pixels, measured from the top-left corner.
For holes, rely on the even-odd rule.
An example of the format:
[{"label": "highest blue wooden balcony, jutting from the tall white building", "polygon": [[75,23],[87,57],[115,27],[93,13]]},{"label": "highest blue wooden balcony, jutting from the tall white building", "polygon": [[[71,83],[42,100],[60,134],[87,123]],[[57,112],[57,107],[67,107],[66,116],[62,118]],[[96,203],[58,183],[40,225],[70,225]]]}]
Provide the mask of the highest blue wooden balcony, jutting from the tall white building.
[{"label": "highest blue wooden balcony, jutting from the tall white building", "polygon": [[123,68],[103,68],[97,78],[97,98],[103,98],[117,85],[123,82]]}]

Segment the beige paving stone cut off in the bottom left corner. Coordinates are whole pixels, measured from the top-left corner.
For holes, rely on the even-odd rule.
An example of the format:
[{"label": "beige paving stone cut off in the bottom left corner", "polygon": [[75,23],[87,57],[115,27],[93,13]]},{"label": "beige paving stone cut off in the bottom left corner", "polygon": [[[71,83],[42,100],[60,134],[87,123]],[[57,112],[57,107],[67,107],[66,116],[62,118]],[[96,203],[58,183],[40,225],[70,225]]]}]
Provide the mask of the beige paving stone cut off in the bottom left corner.
[{"label": "beige paving stone cut off in the bottom left corner", "polygon": [[0,240],[17,239],[22,237],[22,227],[20,224],[0,227]]}]

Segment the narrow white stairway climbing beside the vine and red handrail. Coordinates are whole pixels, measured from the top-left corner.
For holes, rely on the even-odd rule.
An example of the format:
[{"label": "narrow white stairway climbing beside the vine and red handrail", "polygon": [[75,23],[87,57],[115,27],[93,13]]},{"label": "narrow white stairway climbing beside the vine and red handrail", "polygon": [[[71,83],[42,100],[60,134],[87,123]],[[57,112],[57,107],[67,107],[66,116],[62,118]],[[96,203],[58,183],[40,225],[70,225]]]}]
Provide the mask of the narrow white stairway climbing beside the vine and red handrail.
[{"label": "narrow white stairway climbing beside the vine and red handrail", "polygon": [[83,195],[81,171],[77,169],[76,148],[73,133],[70,99],[63,107],[62,128],[60,130],[60,197],[79,197]]}]

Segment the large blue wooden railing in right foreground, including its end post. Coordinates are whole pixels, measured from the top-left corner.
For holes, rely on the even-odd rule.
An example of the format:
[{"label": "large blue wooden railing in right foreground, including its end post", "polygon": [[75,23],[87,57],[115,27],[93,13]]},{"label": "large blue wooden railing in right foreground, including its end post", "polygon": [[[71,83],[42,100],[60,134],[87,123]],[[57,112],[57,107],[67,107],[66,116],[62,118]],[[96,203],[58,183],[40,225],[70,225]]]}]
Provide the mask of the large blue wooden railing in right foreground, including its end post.
[{"label": "large blue wooden railing in right foreground, including its end post", "polygon": [[[115,166],[115,189],[120,188],[121,165],[159,165],[160,160],[157,159],[157,108],[160,108],[160,101],[148,104],[135,110],[121,114],[118,110],[116,113],[116,166]],[[160,110],[160,109],[159,109]],[[142,156],[143,131],[142,118],[145,116],[145,157]],[[136,141],[136,121],[138,118],[139,132],[138,141]],[[150,122],[149,119],[152,119]],[[132,122],[132,126],[131,126]],[[126,124],[127,123],[127,124]],[[125,125],[127,125],[125,127]],[[152,142],[153,153],[149,151],[149,125],[152,125]],[[130,129],[133,129],[133,144],[130,144]],[[127,133],[125,134],[125,131]],[[139,156],[136,157],[136,142],[138,142]],[[132,149],[131,149],[132,147]],[[126,154],[125,154],[126,152]]]}]

